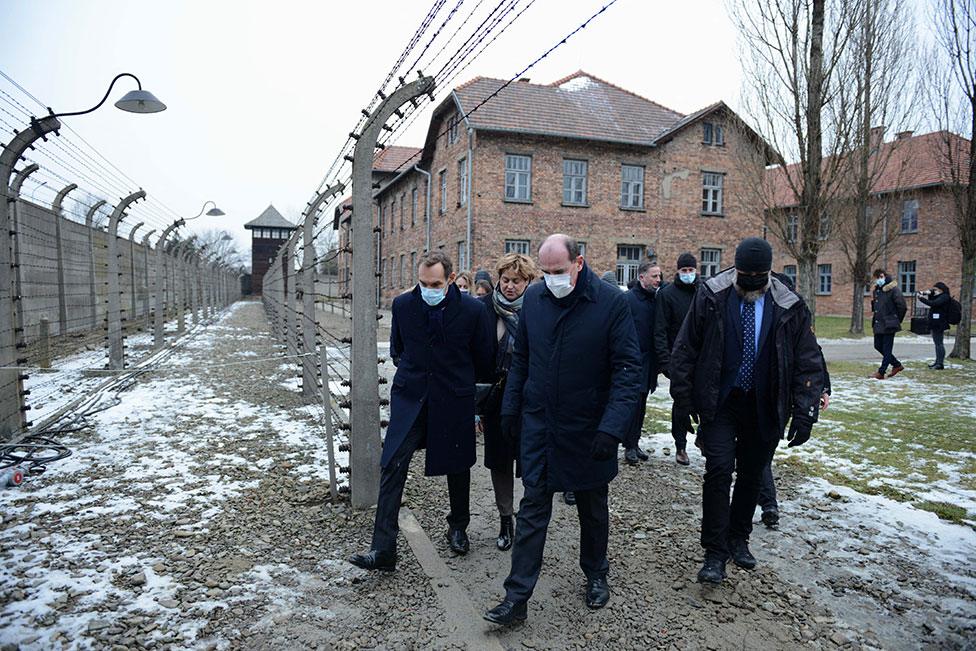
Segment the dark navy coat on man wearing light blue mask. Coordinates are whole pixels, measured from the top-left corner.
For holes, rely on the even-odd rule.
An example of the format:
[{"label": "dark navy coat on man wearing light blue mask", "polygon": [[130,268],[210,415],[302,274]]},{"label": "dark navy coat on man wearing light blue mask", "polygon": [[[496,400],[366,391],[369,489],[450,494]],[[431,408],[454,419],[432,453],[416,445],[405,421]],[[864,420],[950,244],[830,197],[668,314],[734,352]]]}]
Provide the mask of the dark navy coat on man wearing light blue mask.
[{"label": "dark navy coat on man wearing light blue mask", "polygon": [[[430,312],[441,312],[440,323]],[[488,381],[495,337],[485,306],[451,285],[436,308],[420,286],[393,299],[390,356],[397,365],[390,389],[390,425],[383,441],[386,466],[427,404],[425,474],[448,475],[474,465],[474,385]]]}]

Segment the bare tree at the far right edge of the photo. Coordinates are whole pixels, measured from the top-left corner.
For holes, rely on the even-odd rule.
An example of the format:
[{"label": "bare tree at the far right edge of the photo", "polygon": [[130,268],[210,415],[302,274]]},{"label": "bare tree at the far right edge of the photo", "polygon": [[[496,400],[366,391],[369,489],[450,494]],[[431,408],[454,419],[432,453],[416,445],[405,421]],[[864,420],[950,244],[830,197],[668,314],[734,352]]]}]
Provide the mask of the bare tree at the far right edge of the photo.
[{"label": "bare tree at the far right edge of the photo", "polygon": [[952,195],[952,221],[962,248],[962,321],[949,356],[968,359],[976,283],[976,3],[936,3],[929,98],[939,126],[938,160]]}]

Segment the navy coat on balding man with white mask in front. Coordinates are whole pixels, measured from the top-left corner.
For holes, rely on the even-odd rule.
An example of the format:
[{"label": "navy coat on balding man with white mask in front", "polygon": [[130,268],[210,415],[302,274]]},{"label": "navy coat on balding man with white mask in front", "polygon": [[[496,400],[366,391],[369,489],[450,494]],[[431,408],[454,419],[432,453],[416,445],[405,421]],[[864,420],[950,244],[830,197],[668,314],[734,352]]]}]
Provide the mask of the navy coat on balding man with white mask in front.
[{"label": "navy coat on balding man with white mask in front", "polygon": [[640,348],[627,299],[584,264],[573,293],[525,291],[502,414],[522,419],[522,482],[551,491],[604,486],[617,457],[593,439],[623,441],[640,399]]}]

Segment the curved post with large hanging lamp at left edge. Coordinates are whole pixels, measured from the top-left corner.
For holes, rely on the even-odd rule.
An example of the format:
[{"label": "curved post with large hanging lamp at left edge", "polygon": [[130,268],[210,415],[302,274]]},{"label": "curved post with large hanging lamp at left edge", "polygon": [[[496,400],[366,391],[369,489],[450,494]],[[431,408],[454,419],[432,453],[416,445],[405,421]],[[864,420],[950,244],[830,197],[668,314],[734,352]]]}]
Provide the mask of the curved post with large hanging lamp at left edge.
[{"label": "curved post with large hanging lamp at left edge", "polygon": [[[0,438],[9,438],[10,434],[20,428],[27,426],[25,417],[27,406],[23,404],[23,382],[26,376],[16,370],[18,364],[26,360],[18,360],[17,344],[18,335],[22,331],[15,329],[17,323],[16,314],[20,310],[19,296],[14,296],[11,288],[11,233],[7,226],[10,216],[10,176],[13,174],[14,165],[21,159],[24,153],[38,140],[47,140],[50,133],[57,135],[61,129],[59,117],[69,117],[75,115],[85,115],[98,109],[112,89],[122,77],[132,77],[138,84],[138,90],[130,91],[115,103],[116,107],[131,113],[155,113],[162,111],[166,105],[160,102],[152,93],[142,89],[142,83],[134,75],[123,73],[115,77],[109,84],[105,97],[98,104],[86,111],[73,113],[55,113],[48,108],[48,115],[41,118],[32,117],[30,126],[20,131],[11,138],[0,152],[0,216],[3,227],[0,228]],[[14,233],[16,237],[16,233]]]}]

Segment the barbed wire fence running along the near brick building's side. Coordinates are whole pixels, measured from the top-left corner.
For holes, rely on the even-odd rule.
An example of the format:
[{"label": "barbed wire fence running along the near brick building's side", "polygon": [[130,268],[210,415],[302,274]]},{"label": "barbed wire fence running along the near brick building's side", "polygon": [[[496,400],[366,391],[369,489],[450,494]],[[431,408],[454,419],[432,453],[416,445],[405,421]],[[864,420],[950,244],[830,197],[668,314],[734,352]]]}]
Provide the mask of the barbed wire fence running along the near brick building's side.
[{"label": "barbed wire fence running along the near brick building's side", "polygon": [[[494,100],[616,1],[599,6],[468,109],[459,121]],[[380,385],[386,382],[378,372],[378,365],[385,358],[378,352],[376,338],[383,233],[378,211],[374,210],[373,193],[378,187],[372,178],[373,162],[377,152],[395,144],[425,107],[435,104],[435,91],[450,93],[454,80],[535,3],[536,0],[501,0],[486,4],[478,0],[465,11],[465,0],[457,0],[439,19],[447,2],[433,2],[376,93],[360,111],[354,128],[308,202],[298,229],[281,246],[264,277],[263,302],[281,354],[297,361],[302,394],[307,403],[321,409],[332,493],[340,492],[337,477],[344,476],[348,481],[343,483],[342,491],[351,492],[355,507],[367,508],[376,503],[381,433],[387,425],[381,409],[389,404],[379,395]],[[425,75],[425,70],[434,72]],[[408,81],[411,74],[416,74],[417,79]],[[447,131],[436,134],[437,139],[446,137]],[[414,155],[404,160],[394,174],[412,167],[416,158]],[[351,188],[351,206],[342,203],[349,201],[343,194],[347,187]],[[347,212],[351,212],[348,230],[338,245],[317,246],[328,236],[327,229],[338,228]],[[333,213],[334,220],[324,218]],[[430,218],[428,209],[426,219]],[[328,251],[316,254],[320,249]],[[352,269],[350,278],[327,276],[322,271],[339,259],[345,269]],[[321,315],[326,309],[333,314],[338,312],[348,327],[325,327]],[[336,466],[334,446],[349,453],[348,465]]]}]

